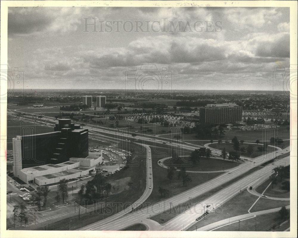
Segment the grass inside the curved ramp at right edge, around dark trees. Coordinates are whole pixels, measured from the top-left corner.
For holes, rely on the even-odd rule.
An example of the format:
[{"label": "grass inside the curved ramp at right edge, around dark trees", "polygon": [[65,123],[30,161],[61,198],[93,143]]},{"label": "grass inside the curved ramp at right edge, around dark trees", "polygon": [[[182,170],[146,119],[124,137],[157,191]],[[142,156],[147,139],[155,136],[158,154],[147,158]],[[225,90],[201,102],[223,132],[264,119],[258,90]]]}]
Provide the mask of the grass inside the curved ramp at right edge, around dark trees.
[{"label": "grass inside the curved ramp at right edge, around dark trees", "polygon": [[[277,184],[273,184],[273,188],[272,188],[272,184],[269,186],[269,188],[266,190],[266,192],[264,193],[264,195],[266,196],[270,196],[270,197],[290,197],[290,191],[284,190],[282,189],[282,182],[286,181],[288,179],[283,179],[282,182],[280,182],[280,179],[278,179]],[[256,191],[258,193],[262,193],[264,191],[264,189],[266,189],[266,187],[268,186],[268,184],[271,182],[271,179],[267,179],[264,183],[260,184],[257,188]]]}]

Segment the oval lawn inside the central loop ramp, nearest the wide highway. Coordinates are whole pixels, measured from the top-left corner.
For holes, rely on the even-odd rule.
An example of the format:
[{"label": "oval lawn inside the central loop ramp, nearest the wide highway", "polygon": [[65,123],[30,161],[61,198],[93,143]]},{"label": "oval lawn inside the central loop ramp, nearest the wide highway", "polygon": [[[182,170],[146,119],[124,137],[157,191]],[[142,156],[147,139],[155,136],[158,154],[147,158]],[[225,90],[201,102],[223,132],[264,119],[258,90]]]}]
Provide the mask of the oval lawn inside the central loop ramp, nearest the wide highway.
[{"label": "oval lawn inside the central loop ramp, nearest the wide highway", "polygon": [[[185,160],[189,160],[189,157],[184,157]],[[232,162],[229,160],[221,160],[221,159],[215,159],[215,158],[205,158],[202,157],[200,158],[200,161],[197,162],[196,164],[192,164],[191,161],[188,161],[188,163],[184,163],[186,170],[190,171],[217,171],[217,170],[224,170],[233,168],[238,165],[237,162]],[[165,165],[170,164],[170,163],[164,163]],[[183,166],[182,164],[181,166]]]}]

